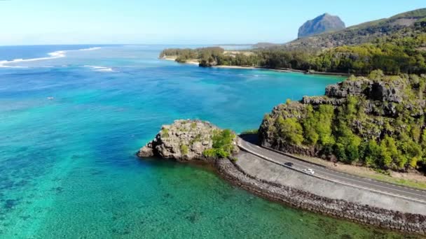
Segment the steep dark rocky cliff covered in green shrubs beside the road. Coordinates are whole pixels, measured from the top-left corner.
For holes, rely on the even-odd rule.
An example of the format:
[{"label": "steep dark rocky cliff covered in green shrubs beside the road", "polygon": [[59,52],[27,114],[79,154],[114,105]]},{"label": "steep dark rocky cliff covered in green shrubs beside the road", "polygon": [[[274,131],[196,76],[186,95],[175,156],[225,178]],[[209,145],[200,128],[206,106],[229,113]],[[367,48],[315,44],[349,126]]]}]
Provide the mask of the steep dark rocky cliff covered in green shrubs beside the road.
[{"label": "steep dark rocky cliff covered in green shrubs beside the road", "polygon": [[275,150],[404,171],[425,167],[426,75],[351,77],[276,106],[259,129]]}]

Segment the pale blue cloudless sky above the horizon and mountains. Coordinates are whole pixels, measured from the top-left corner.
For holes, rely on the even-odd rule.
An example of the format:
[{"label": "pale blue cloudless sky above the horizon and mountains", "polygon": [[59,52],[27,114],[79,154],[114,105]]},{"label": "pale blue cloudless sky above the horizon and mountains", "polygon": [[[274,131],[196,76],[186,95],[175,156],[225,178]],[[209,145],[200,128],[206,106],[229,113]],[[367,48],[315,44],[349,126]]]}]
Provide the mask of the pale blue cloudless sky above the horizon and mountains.
[{"label": "pale blue cloudless sky above the horizon and mountains", "polygon": [[0,0],[0,45],[285,43],[322,13],[346,26],[425,0]]}]

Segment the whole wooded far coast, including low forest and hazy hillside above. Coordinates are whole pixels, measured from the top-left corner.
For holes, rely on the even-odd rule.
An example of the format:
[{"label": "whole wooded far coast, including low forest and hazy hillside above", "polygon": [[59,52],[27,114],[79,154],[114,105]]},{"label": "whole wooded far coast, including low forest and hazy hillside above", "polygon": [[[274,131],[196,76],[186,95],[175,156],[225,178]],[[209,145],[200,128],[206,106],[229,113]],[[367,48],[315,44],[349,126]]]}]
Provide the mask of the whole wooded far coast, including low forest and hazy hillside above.
[{"label": "whole wooded far coast, including low forest and hazy hillside above", "polygon": [[258,66],[357,75],[381,69],[387,75],[421,74],[426,73],[426,8],[285,45],[268,45],[251,50],[252,54],[245,52],[166,49],[160,57],[174,56],[179,62],[198,59],[200,66]]}]

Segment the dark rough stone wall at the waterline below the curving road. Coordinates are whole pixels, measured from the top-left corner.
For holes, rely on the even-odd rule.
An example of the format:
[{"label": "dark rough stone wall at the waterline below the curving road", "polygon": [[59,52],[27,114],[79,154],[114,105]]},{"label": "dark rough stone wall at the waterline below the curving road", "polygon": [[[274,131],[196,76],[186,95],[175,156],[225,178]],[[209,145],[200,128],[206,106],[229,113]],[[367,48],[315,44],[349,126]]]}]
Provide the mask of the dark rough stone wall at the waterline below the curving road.
[{"label": "dark rough stone wall at the waterline below the curving road", "polygon": [[282,184],[268,182],[245,173],[242,168],[229,160],[219,160],[216,166],[221,176],[229,182],[270,200],[285,203],[295,208],[320,212],[324,215],[349,219],[361,224],[426,236],[425,215],[397,212],[326,198]]}]

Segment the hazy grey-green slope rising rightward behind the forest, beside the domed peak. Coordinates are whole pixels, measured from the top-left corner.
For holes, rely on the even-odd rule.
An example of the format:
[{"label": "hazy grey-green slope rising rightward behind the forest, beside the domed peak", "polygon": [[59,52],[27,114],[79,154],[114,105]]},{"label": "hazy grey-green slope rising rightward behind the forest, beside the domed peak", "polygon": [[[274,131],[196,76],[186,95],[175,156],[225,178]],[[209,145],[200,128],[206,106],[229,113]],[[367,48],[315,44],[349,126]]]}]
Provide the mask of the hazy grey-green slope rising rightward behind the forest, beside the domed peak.
[{"label": "hazy grey-green slope rising rightward behind the forest, beside the domed peak", "polygon": [[383,36],[399,34],[409,36],[418,23],[426,18],[426,8],[412,10],[372,22],[365,22],[340,31],[298,38],[286,43],[286,48],[333,48],[341,45],[358,45],[376,41]]}]

